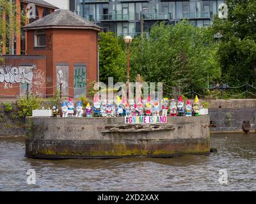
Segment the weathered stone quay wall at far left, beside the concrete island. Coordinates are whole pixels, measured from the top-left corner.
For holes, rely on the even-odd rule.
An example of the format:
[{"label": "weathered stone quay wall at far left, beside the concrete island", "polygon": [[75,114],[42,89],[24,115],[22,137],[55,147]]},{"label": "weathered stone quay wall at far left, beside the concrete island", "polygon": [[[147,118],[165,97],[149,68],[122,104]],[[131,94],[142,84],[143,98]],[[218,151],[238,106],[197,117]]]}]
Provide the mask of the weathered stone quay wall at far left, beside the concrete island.
[{"label": "weathered stone quay wall at far left, beside the concrete island", "polygon": [[3,103],[0,102],[0,138],[25,135],[25,119],[19,117],[14,102],[12,106],[13,110],[11,112],[4,112]]}]

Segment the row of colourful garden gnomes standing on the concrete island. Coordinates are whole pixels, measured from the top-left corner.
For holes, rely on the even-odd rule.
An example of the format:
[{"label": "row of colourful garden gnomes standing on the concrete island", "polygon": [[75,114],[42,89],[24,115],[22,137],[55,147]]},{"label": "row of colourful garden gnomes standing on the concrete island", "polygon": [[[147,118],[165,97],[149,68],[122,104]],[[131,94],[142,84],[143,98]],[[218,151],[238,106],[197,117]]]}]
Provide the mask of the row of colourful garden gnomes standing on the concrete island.
[{"label": "row of colourful garden gnomes standing on the concrete island", "polygon": [[[76,110],[76,115],[74,114]],[[170,100],[164,98],[162,101],[159,101],[157,98],[150,100],[148,96],[147,103],[144,105],[141,101],[141,98],[137,103],[134,103],[134,100],[127,101],[125,97],[122,99],[119,96],[116,96],[116,105],[115,103],[109,103],[107,100],[99,100],[99,97],[96,95],[93,99],[93,107],[90,103],[86,104],[85,113],[86,117],[125,117],[125,116],[142,116],[142,115],[168,115],[170,110],[170,116],[199,116],[200,112],[200,103],[198,97],[195,97],[193,105],[186,100],[186,105],[184,106],[184,100],[182,96],[179,96],[178,101],[175,99]],[[53,117],[56,117],[58,114],[58,108],[56,105],[52,106]],[[68,102],[63,102],[61,105],[62,117],[83,117],[83,103],[81,101],[77,102],[76,108],[75,103],[70,98]],[[160,113],[161,112],[161,113]]]}]

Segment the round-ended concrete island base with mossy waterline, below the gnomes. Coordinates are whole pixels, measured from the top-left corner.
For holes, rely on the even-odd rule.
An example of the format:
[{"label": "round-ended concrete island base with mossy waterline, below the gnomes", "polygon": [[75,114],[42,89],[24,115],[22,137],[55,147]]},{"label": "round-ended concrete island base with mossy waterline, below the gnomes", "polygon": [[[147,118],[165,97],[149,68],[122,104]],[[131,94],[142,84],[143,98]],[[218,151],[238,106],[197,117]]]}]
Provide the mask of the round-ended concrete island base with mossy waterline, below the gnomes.
[{"label": "round-ended concrete island base with mossy waterline, below the gnomes", "polygon": [[[106,132],[108,124],[124,124],[115,118],[27,118],[26,156],[49,158],[104,158],[125,156],[168,157],[175,154],[207,154],[209,116],[168,117],[167,124],[152,131]],[[141,125],[140,125],[141,126]]]}]

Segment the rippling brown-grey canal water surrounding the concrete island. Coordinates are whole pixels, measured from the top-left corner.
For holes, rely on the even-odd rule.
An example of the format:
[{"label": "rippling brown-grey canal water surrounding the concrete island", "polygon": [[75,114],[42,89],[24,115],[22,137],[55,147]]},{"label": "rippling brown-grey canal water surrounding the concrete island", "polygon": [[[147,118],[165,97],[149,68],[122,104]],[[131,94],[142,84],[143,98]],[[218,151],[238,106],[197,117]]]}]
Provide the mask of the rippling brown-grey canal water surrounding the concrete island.
[{"label": "rippling brown-grey canal water surrounding the concrete island", "polygon": [[256,190],[255,133],[211,135],[211,147],[209,156],[47,161],[24,157],[24,139],[0,139],[0,191]]}]

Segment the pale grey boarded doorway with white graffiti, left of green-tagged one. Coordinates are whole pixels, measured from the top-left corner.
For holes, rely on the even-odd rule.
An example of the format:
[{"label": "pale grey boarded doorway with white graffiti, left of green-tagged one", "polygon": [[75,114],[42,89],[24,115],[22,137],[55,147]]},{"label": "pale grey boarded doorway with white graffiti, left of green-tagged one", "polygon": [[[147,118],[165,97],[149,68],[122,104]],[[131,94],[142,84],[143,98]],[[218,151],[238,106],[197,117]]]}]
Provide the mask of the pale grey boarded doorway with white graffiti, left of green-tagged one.
[{"label": "pale grey boarded doorway with white graffiti, left of green-tagged one", "polygon": [[58,91],[60,91],[60,83],[61,91],[63,96],[68,96],[68,66],[57,66],[57,87]]}]

